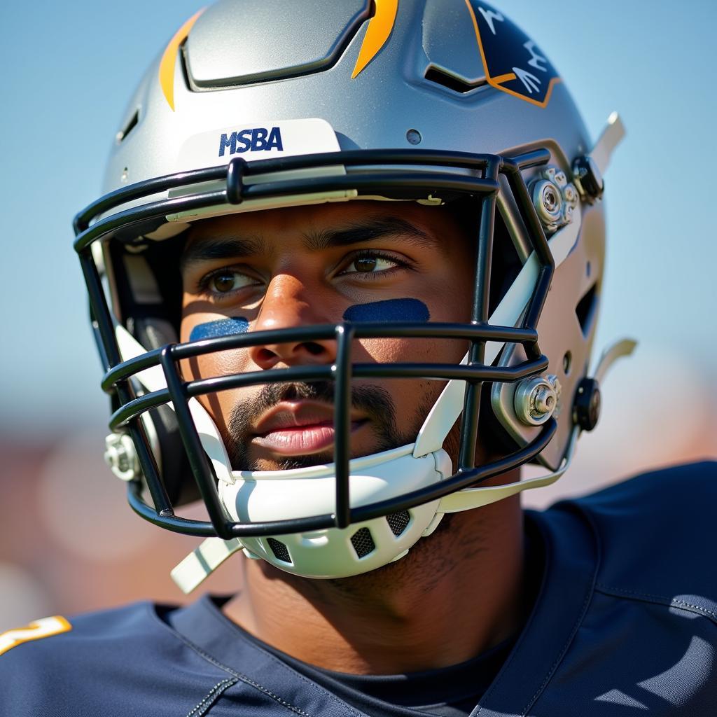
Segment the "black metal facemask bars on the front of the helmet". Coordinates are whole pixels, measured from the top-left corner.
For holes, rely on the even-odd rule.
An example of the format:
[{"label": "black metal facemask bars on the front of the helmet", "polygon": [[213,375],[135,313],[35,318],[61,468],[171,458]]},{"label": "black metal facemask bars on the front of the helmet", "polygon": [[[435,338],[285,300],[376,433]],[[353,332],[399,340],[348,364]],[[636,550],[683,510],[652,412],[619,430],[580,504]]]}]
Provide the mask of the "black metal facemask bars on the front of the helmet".
[{"label": "black metal facemask bars on the front of the helmet", "polygon": [[[197,536],[219,536],[224,539],[241,536],[272,536],[297,533],[323,528],[343,528],[388,513],[402,511],[414,505],[427,503],[457,490],[475,485],[505,470],[531,460],[547,445],[556,431],[556,422],[549,419],[538,437],[521,450],[475,467],[475,447],[478,432],[480,392],[485,381],[518,381],[539,374],[548,365],[548,359],[538,348],[536,325],[543,308],[554,272],[554,260],[546,242],[521,170],[539,166],[549,161],[547,150],[538,150],[510,158],[470,153],[442,151],[351,151],[323,153],[258,161],[247,164],[234,158],[228,166],[207,168],[153,179],[125,189],[120,189],[88,207],[75,219],[75,250],[85,275],[90,296],[90,312],[95,336],[103,359],[105,377],[103,389],[116,395],[120,408],[110,420],[110,429],[126,431],[132,438],[138,460],[151,495],[153,506],[142,496],[141,480],[130,481],[128,498],[130,505],[141,516],[165,528]],[[290,169],[315,168],[343,165],[346,174],[337,176],[305,177],[302,179],[278,179],[248,184],[247,178],[254,174],[272,174]],[[409,167],[406,167],[408,165]],[[450,167],[452,171],[427,170],[425,167]],[[391,167],[386,169],[386,167]],[[398,168],[396,168],[398,167]],[[414,168],[417,167],[417,168]],[[480,172],[457,174],[455,168]],[[380,169],[381,171],[376,171]],[[490,264],[493,251],[495,223],[495,197],[500,191],[499,174],[508,179],[513,196],[521,211],[528,232],[528,243],[538,260],[538,280],[523,314],[521,326],[488,325],[488,297],[490,293]],[[217,181],[224,181],[224,189],[214,189]],[[201,187],[204,184],[204,190]],[[200,191],[170,199],[159,199],[146,204],[120,209],[128,202],[146,199],[171,189],[186,188],[199,184]],[[206,189],[211,186],[212,189]],[[307,192],[347,189],[366,196],[390,196],[401,199],[425,199],[456,195],[480,196],[480,224],[476,253],[476,282],[473,296],[471,323],[448,324],[386,324],[386,323],[340,323],[330,326],[309,326],[280,331],[250,332],[237,336],[212,338],[186,344],[174,344],[148,351],[142,356],[122,361],[115,338],[113,316],[100,280],[100,273],[92,256],[92,243],[112,237],[118,229],[137,227],[138,242],[145,227],[156,225],[165,217],[179,212],[190,212],[218,205],[241,204],[250,199],[263,199]],[[104,215],[104,216],[102,216]],[[94,223],[92,223],[94,222]],[[151,229],[149,229],[151,231]],[[131,243],[131,242],[130,242]],[[290,369],[273,369],[247,374],[232,374],[199,381],[183,381],[177,362],[192,356],[214,351],[247,348],[266,341],[320,341],[335,338],[337,342],[336,363],[333,366],[294,366]],[[351,364],[351,343],[356,338],[452,338],[470,341],[467,365],[446,364]],[[485,366],[485,344],[488,341],[521,343],[528,360],[511,368]],[[137,397],[130,379],[153,366],[161,366],[166,379],[166,389],[151,391]],[[437,380],[458,379],[465,381],[465,401],[462,412],[459,465],[452,477],[436,485],[402,495],[397,499],[384,500],[358,508],[351,508],[348,495],[351,379],[356,378],[430,378]],[[292,381],[334,381],[335,384],[335,463],[336,463],[336,511],[331,515],[312,516],[261,523],[237,523],[227,515],[217,495],[217,477],[211,462],[201,447],[201,440],[189,409],[189,399],[238,386]],[[174,514],[168,495],[160,478],[141,415],[162,404],[170,403],[176,412],[181,438],[191,464],[194,478],[209,513],[210,521],[192,521]]]}]

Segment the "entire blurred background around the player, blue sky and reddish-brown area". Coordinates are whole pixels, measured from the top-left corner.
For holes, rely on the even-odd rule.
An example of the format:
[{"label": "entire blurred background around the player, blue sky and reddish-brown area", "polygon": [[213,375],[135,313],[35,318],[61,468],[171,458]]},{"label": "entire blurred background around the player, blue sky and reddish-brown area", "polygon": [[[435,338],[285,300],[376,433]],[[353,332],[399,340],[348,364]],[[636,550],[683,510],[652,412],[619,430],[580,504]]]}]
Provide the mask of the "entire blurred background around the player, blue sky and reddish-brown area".
[{"label": "entire blurred background around the player, blue sky and reddish-brown area", "polygon": [[[105,467],[108,402],[72,217],[139,78],[200,0],[1,3],[0,631],[133,599],[179,602],[169,569],[197,543],[136,518]],[[717,456],[717,4],[511,0],[495,6],[559,69],[593,138],[619,110],[607,174],[598,348],[640,341],[604,385],[574,467],[543,507],[642,470]],[[92,508],[92,510],[90,510]],[[232,562],[212,577],[236,587]]]}]

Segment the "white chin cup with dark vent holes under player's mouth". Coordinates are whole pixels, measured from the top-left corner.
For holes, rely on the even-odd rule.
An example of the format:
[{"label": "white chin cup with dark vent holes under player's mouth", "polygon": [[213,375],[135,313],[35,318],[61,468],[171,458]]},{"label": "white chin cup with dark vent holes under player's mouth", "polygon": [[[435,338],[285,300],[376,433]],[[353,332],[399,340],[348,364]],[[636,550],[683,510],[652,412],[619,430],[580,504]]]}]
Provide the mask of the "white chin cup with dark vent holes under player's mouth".
[{"label": "white chin cup with dark vent holes under player's mouth", "polygon": [[[413,445],[356,458],[349,463],[352,508],[398,498],[435,485],[452,474],[444,450],[422,457]],[[277,521],[334,513],[336,467],[318,465],[289,471],[234,473],[234,483],[219,482],[219,498],[235,521]],[[440,500],[389,516],[270,538],[241,538],[252,557],[277,568],[312,578],[344,578],[375,570],[407,554],[424,535],[435,530],[443,513]]]}]

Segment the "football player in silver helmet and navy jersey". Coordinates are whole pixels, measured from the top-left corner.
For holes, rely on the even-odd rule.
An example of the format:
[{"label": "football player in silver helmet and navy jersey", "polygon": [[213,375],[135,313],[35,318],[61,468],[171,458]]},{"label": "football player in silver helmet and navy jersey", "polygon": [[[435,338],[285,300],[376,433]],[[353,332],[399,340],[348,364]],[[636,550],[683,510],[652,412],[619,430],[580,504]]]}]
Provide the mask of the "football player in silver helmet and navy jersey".
[{"label": "football player in silver helmet and navy jersey", "polygon": [[105,458],[238,592],[5,633],[0,711],[713,715],[715,465],[519,500],[634,346],[591,359],[622,134],[483,0],[191,17],[75,250]]}]

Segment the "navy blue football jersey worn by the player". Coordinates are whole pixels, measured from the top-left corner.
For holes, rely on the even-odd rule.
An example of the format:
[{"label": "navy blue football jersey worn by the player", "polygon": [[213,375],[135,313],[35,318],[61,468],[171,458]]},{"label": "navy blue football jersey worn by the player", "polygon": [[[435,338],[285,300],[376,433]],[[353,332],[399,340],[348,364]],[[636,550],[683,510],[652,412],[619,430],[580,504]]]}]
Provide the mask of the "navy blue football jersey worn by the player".
[{"label": "navy blue football jersey worn by the player", "polygon": [[[717,715],[716,506],[717,463],[708,462],[527,511],[544,555],[541,586],[521,635],[490,663],[495,677],[481,686],[476,676],[473,715]],[[7,635],[2,716],[424,716],[455,702],[449,693],[431,708],[391,705],[390,680],[381,698],[362,701],[360,680],[352,687],[341,675],[332,690],[209,598]]]}]

